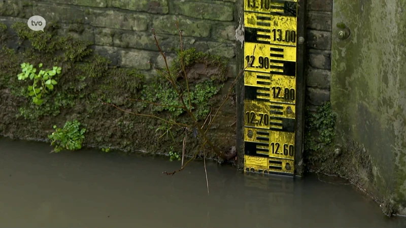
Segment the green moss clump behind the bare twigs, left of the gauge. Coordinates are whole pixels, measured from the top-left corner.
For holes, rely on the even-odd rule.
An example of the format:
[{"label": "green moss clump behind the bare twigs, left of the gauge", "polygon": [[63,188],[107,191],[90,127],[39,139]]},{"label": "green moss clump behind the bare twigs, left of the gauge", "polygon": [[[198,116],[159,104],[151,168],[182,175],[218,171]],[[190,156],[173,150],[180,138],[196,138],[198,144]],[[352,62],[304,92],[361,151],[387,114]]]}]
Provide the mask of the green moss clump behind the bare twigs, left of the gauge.
[{"label": "green moss clump behind the bare twigs, left of the gauge", "polygon": [[[171,77],[174,78],[177,88],[183,93],[185,104],[189,107],[189,97],[187,93],[187,83],[184,78],[182,69],[182,58],[185,69],[192,67],[196,63],[205,63],[206,65],[214,65],[218,68],[218,72],[211,78],[198,79],[196,82],[189,81],[190,103],[194,115],[198,120],[206,118],[210,111],[210,99],[216,95],[223,87],[226,73],[226,61],[217,56],[211,56],[203,52],[196,52],[195,49],[178,52],[178,56],[172,63],[170,68]],[[172,84],[167,80],[169,76],[166,70],[158,71],[159,77],[148,86],[144,86],[143,99],[159,103],[165,106],[152,106],[153,111],[169,111],[173,117],[180,116],[184,110],[179,107],[183,106]]]}]

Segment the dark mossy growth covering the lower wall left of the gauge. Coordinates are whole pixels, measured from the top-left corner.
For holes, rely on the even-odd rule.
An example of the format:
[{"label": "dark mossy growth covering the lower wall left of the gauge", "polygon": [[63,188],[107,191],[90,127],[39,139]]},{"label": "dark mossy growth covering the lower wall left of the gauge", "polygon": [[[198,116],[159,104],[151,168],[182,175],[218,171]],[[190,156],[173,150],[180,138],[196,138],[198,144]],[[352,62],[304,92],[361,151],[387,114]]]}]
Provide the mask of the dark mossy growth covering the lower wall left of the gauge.
[{"label": "dark mossy growth covering the lower wall left of the gauge", "polygon": [[[71,36],[59,36],[59,26],[56,23],[50,22],[46,29],[44,33],[34,32],[24,23],[15,23],[4,33],[4,39],[4,34],[1,36],[3,49],[0,51],[0,57],[6,60],[0,63],[1,134],[46,140],[54,125],[63,126],[66,121],[77,119],[87,129],[86,145],[125,151],[168,153],[170,147],[161,145],[172,144],[175,150],[180,151],[185,129],[171,129],[176,142],[174,143],[171,137],[159,137],[169,128],[159,120],[129,115],[101,102],[115,103],[126,111],[149,113],[164,119],[171,116],[179,122],[190,123],[191,120],[178,108],[157,107],[130,100],[145,99],[163,105],[177,105],[179,101],[167,81],[159,77],[159,74],[147,80],[145,75],[136,69],[110,65],[106,58],[92,54],[91,43]],[[10,40],[17,39],[11,31],[16,32],[21,41],[14,49],[6,45]],[[178,75],[177,83],[182,87],[184,79],[179,75],[179,58],[178,55],[171,71]],[[191,78],[191,103],[194,113],[204,122],[210,108],[216,108],[219,101],[225,97],[221,89],[228,83],[227,61],[218,56],[196,52],[194,49],[184,51],[182,58]],[[44,95],[42,105],[31,102],[27,95],[27,82],[17,79],[17,74],[21,72],[20,63],[23,62],[34,66],[43,63],[44,68],[62,68],[61,75],[57,77],[58,84],[51,94]],[[161,76],[164,73],[158,72]],[[230,101],[226,103],[218,117],[218,123],[213,125],[217,128],[216,131],[209,133],[209,137],[222,150],[228,150],[235,143],[235,129],[231,125],[234,120],[222,114],[224,110],[235,110],[233,105]],[[198,139],[194,138],[193,134],[188,135],[186,153],[190,155],[195,152]]]}]

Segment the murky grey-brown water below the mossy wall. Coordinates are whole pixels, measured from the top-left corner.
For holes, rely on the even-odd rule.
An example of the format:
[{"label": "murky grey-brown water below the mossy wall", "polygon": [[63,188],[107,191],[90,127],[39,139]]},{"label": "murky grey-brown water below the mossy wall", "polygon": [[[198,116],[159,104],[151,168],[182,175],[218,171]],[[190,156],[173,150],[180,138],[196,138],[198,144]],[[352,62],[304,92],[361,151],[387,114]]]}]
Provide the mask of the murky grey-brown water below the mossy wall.
[{"label": "murky grey-brown water below the mossy wall", "polygon": [[0,139],[0,227],[406,227],[326,177],[245,176],[209,163],[208,195],[200,162],[166,176],[180,162],[49,151]]}]

